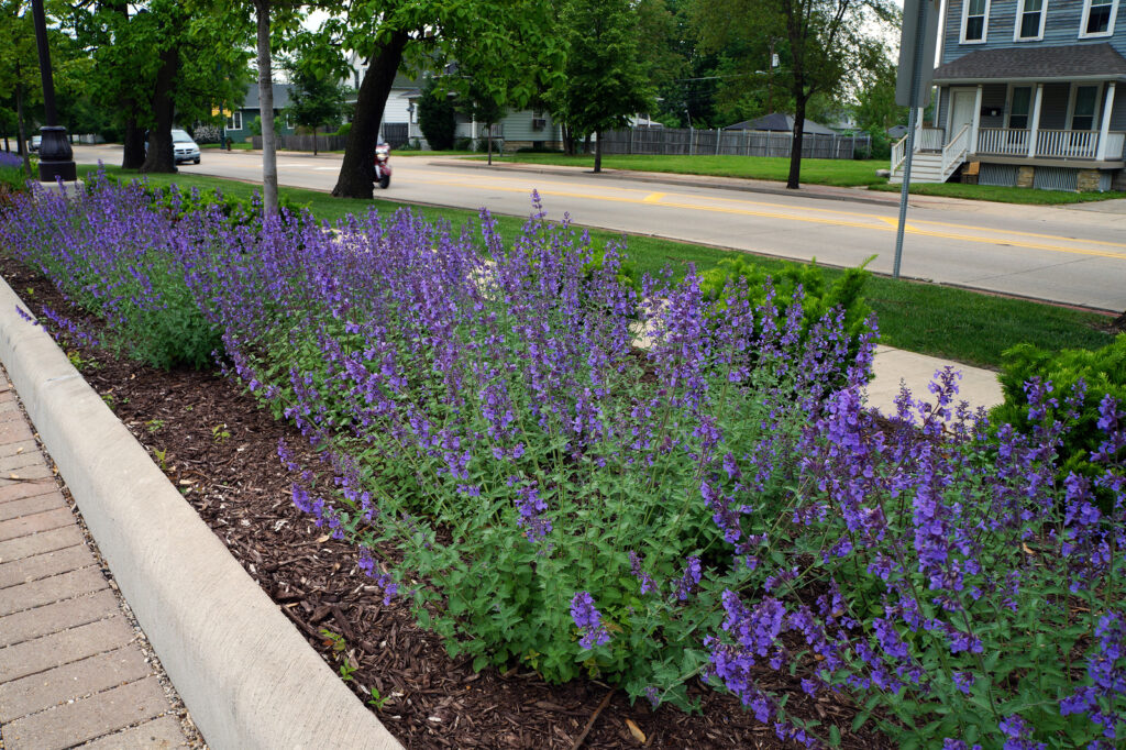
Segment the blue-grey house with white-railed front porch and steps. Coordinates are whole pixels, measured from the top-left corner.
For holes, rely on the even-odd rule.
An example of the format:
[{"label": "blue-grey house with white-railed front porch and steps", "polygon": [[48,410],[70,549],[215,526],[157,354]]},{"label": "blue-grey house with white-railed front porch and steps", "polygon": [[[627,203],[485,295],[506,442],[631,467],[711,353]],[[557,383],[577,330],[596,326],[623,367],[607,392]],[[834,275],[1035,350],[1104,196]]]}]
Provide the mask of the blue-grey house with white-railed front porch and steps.
[{"label": "blue-grey house with white-railed front porch and steps", "polygon": [[[911,180],[1126,189],[1119,0],[948,0]],[[1124,87],[1126,88],[1126,87]],[[901,181],[906,139],[892,151]]]}]

